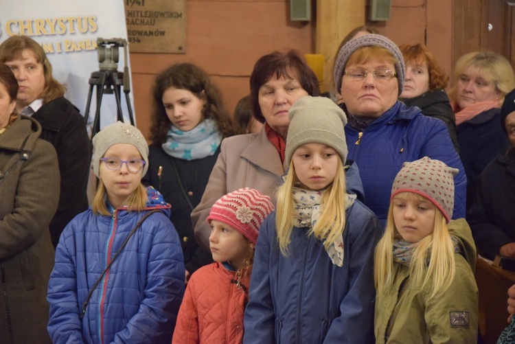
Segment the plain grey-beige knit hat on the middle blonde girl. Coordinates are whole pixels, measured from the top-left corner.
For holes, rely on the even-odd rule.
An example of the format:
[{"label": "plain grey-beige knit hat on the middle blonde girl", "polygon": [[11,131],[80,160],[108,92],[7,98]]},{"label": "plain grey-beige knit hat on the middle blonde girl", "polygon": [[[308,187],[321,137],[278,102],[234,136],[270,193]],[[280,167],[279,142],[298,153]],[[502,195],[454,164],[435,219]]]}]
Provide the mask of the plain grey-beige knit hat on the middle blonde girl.
[{"label": "plain grey-beige knit hat on the middle blonde girl", "polygon": [[310,143],[330,146],[341,157],[342,163],[347,160],[347,142],[345,130],[347,116],[332,100],[325,97],[302,97],[295,102],[290,111],[290,126],[286,136],[286,162],[290,165],[293,152]]}]

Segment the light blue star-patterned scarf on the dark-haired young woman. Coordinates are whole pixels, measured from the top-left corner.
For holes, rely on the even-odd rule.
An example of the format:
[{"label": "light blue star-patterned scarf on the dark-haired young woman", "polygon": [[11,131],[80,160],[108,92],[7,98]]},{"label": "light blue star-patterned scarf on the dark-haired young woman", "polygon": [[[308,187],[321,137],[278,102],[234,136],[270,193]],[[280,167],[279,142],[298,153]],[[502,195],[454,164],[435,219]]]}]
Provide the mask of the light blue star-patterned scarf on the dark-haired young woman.
[{"label": "light blue star-patterned scarf on the dark-haired young woman", "polygon": [[166,142],[161,145],[166,154],[183,160],[211,157],[222,142],[214,119],[207,118],[190,131],[179,130],[172,124]]}]

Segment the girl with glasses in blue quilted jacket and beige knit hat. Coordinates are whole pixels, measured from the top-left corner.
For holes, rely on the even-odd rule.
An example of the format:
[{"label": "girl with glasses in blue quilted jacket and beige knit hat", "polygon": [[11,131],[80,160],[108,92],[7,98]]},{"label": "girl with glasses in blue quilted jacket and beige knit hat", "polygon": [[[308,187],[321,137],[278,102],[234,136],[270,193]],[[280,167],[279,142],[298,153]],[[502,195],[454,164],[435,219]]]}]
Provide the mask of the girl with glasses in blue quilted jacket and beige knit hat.
[{"label": "girl with glasses in blue quilted jacket and beige knit hat", "polygon": [[62,232],[48,284],[54,343],[170,343],[184,294],[170,205],[141,185],[148,146],[117,122],[93,137],[92,207]]}]

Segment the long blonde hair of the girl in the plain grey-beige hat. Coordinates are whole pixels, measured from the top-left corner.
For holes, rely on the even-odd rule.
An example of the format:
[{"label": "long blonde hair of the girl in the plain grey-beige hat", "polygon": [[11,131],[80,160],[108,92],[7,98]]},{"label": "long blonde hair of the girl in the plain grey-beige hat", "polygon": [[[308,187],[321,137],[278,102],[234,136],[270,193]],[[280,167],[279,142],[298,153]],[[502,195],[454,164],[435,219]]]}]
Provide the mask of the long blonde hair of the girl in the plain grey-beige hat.
[{"label": "long blonde hair of the girl in the plain grey-beige hat", "polygon": [[[320,208],[321,215],[317,223],[310,229],[309,234],[313,234],[319,240],[325,239],[323,246],[329,246],[342,235],[345,229],[345,171],[339,155],[336,175],[332,184],[323,192]],[[295,225],[295,204],[293,202],[293,187],[299,183],[293,161],[290,162],[290,169],[286,174],[286,181],[277,190],[277,207],[275,227],[277,229],[277,241],[279,249],[286,257],[288,256],[288,246],[290,236]]]}]

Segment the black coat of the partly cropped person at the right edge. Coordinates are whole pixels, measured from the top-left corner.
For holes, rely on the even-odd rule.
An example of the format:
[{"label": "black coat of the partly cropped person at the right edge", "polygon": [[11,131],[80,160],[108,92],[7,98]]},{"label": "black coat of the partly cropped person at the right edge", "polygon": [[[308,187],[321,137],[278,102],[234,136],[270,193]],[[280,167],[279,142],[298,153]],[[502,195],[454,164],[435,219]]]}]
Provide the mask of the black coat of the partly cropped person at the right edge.
[{"label": "black coat of the partly cropped person at the right edge", "polygon": [[479,254],[493,260],[515,242],[515,149],[499,154],[483,170],[467,220]]}]

